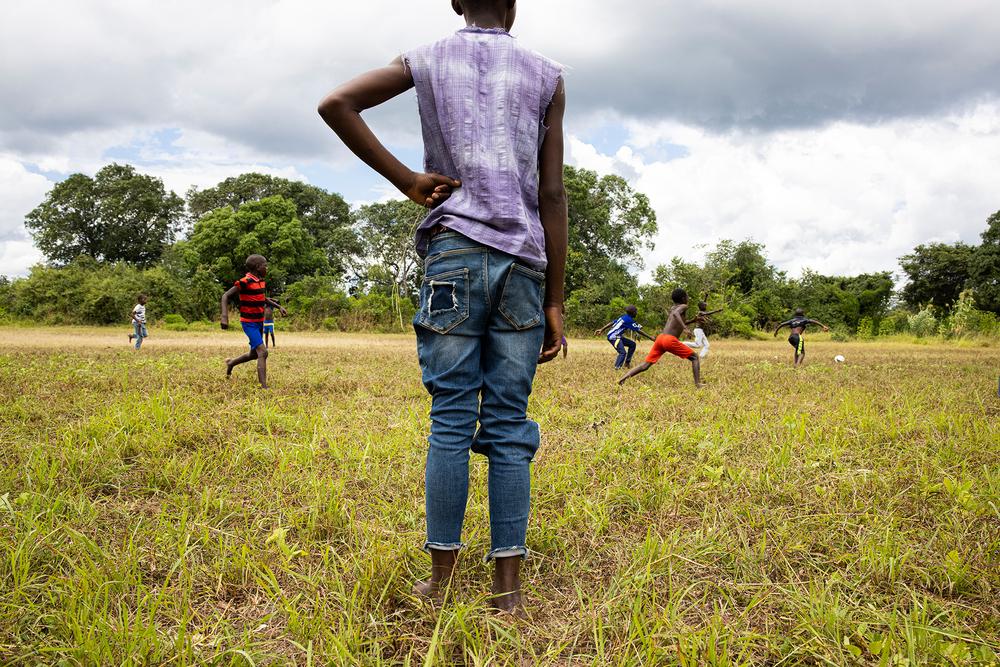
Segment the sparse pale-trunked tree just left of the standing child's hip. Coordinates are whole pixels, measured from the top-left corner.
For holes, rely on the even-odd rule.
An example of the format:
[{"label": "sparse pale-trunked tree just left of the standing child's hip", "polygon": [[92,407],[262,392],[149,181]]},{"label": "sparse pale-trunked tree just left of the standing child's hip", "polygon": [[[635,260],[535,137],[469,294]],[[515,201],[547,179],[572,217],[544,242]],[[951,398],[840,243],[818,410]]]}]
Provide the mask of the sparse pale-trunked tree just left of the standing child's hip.
[{"label": "sparse pale-trunked tree just left of the standing child's hip", "polygon": [[427,210],[407,199],[394,199],[362,206],[354,213],[360,254],[354,259],[359,285],[370,292],[391,297],[399,319],[400,302],[414,302],[422,264],[413,245],[413,231]]}]

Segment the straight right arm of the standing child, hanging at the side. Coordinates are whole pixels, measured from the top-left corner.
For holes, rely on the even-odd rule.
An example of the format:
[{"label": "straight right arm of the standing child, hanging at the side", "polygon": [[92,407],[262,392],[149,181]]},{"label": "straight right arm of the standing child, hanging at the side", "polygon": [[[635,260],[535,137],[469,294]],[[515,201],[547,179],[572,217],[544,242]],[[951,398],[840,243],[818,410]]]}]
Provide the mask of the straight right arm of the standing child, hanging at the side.
[{"label": "straight right arm of the standing child, hanging at the side", "polygon": [[548,130],[538,155],[538,213],[545,231],[545,339],[539,363],[556,358],[562,342],[563,301],[566,288],[566,246],[569,244],[569,211],[563,184],[563,114],[566,88],[562,79],[545,112]]}]

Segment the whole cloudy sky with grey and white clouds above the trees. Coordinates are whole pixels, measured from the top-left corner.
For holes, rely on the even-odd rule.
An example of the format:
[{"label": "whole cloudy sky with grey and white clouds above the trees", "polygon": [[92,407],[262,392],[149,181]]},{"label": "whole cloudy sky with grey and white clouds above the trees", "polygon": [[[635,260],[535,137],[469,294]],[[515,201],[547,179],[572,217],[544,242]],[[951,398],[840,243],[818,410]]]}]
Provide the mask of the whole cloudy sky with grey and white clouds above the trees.
[{"label": "whole cloudy sky with grey and white clouds above the trees", "polygon": [[[445,0],[5,0],[0,274],[39,260],[52,185],[111,161],[178,194],[256,170],[392,195],[316,104],[462,25]],[[647,271],[723,238],[792,275],[895,270],[1000,209],[996,0],[521,0],[513,32],[568,68],[567,161],[649,195]],[[420,167],[412,93],[368,117]]]}]

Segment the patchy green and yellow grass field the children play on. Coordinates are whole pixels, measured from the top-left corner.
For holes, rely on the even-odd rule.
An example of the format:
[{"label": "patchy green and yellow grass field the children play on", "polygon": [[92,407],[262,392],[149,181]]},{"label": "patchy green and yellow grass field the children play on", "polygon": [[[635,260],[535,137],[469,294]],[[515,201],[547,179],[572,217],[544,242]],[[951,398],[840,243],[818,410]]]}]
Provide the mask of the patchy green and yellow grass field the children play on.
[{"label": "patchy green and yellow grass field the children play on", "polygon": [[[0,329],[0,663],[996,664],[1000,349],[718,340],[539,369],[528,621],[485,463],[441,608],[412,337]],[[640,344],[640,353],[648,343]],[[847,363],[833,364],[843,353]]]}]

